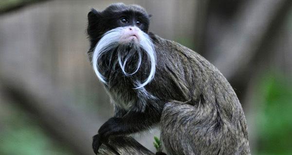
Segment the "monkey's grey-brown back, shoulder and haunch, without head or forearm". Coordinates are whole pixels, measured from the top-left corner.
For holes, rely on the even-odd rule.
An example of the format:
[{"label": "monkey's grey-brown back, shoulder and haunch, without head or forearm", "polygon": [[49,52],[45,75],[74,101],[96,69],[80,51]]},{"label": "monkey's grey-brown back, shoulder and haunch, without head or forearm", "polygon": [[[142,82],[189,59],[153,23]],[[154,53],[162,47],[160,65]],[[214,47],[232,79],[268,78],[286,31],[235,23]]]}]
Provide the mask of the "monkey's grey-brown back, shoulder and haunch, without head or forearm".
[{"label": "monkey's grey-brown back, shoulder and haunch, without head or forearm", "polygon": [[167,101],[161,139],[168,154],[249,155],[245,116],[226,78],[191,49],[157,35],[152,39],[157,71],[146,88]]}]

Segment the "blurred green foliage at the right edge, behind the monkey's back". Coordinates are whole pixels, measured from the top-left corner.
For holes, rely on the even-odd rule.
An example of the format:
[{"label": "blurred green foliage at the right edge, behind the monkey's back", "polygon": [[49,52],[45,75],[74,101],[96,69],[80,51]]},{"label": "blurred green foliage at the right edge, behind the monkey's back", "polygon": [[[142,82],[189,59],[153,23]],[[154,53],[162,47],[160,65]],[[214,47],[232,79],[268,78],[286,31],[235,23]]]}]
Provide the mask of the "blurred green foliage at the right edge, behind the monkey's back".
[{"label": "blurred green foliage at the right edge, behind the monkey's back", "polygon": [[258,119],[258,154],[291,155],[292,85],[278,74],[268,75],[262,81],[263,108],[255,118]]}]

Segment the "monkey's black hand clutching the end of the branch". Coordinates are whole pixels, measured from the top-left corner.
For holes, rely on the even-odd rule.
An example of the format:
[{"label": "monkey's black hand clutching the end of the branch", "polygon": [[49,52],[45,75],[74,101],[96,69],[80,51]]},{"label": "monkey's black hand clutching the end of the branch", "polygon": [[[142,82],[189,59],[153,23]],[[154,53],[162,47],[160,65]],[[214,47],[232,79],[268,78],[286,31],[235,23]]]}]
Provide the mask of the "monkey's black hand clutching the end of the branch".
[{"label": "monkey's black hand clutching the end of the branch", "polygon": [[110,118],[106,123],[101,125],[98,134],[93,136],[93,152],[97,155],[98,149],[102,143],[107,144],[111,135],[119,135],[119,133],[123,133],[123,131],[122,119],[117,117]]}]

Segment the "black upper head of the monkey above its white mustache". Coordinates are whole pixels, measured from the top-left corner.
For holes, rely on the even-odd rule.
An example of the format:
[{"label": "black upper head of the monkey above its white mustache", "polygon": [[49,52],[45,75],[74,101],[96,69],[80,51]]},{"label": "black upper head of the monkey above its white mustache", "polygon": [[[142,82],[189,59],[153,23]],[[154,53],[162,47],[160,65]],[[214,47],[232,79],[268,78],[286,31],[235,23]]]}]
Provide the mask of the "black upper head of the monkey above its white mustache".
[{"label": "black upper head of the monkey above its white mustache", "polygon": [[149,15],[137,5],[112,4],[103,12],[91,9],[88,14],[88,35],[94,47],[102,35],[114,28],[136,26],[148,33]]}]

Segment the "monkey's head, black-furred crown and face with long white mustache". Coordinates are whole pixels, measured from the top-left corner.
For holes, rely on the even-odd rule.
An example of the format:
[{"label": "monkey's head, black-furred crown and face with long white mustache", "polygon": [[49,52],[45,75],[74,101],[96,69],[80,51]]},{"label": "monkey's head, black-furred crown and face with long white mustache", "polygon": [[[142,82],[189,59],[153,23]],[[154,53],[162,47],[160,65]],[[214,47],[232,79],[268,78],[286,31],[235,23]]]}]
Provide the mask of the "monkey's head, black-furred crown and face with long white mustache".
[{"label": "monkey's head, black-furred crown and face with long white mustache", "polygon": [[143,63],[149,65],[148,77],[143,81],[136,80],[136,88],[144,87],[154,77],[156,55],[148,36],[149,17],[145,9],[138,5],[117,3],[102,12],[91,9],[87,29],[91,42],[89,55],[93,69],[102,82],[107,83],[103,74],[109,69],[103,64],[111,62],[112,58],[117,59],[112,61],[119,63],[125,76],[137,73]]}]

